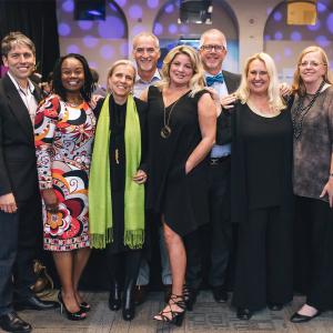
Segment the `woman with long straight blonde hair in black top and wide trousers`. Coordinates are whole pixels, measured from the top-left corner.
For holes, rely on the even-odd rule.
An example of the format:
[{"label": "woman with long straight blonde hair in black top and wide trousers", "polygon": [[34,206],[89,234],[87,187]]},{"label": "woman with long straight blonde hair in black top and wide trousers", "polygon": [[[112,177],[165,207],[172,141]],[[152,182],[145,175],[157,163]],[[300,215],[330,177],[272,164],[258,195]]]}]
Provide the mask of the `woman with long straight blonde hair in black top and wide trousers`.
[{"label": "woman with long straight blonde hair in black top and wide trousers", "polygon": [[292,287],[292,122],[272,58],[248,59],[232,112],[232,219],[239,249],[232,303],[249,320],[281,310]]}]

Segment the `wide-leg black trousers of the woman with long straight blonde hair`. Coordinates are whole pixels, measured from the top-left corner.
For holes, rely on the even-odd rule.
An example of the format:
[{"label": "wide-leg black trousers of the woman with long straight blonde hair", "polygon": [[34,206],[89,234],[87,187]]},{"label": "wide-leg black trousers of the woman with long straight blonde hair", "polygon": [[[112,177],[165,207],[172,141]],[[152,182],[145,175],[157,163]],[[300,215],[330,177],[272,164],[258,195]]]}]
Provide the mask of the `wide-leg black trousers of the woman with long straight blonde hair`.
[{"label": "wide-leg black trousers of the woman with long straight blonde hair", "polygon": [[280,208],[249,211],[239,225],[234,306],[256,311],[292,301],[292,228]]}]

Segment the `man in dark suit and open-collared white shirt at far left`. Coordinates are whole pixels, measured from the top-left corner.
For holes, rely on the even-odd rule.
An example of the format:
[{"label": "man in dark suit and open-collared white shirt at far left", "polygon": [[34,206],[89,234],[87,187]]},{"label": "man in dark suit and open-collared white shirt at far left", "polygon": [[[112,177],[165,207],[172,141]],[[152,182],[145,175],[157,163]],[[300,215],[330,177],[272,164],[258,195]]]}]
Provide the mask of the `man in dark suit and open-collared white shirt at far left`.
[{"label": "man in dark suit and open-collared white shirt at far left", "polygon": [[41,234],[33,122],[40,90],[28,78],[34,69],[32,41],[11,32],[1,41],[9,71],[0,81],[0,327],[30,332],[13,309],[48,310],[31,291],[36,244]]}]

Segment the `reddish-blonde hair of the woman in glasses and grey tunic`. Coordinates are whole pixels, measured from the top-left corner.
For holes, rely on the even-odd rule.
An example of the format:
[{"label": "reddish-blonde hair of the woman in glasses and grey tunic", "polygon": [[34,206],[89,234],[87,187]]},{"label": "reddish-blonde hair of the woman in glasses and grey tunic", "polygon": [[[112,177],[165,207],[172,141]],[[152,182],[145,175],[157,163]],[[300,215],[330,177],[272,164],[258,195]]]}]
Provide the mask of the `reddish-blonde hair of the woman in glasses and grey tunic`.
[{"label": "reddish-blonde hair of the woman in glasses and grey tunic", "polygon": [[304,58],[304,56],[307,54],[307,53],[311,53],[311,52],[320,52],[320,54],[322,57],[322,63],[326,68],[325,74],[323,77],[323,80],[326,83],[333,84],[332,73],[329,71],[329,58],[327,58],[327,54],[325,53],[325,51],[322,48],[316,47],[316,46],[311,46],[311,47],[305,48],[301,52],[301,54],[299,56],[297,68],[296,68],[295,72],[294,72],[294,80],[293,80],[292,88],[293,88],[293,91],[296,92],[300,95],[305,94],[305,85],[304,85],[304,82],[303,82],[303,80],[301,78],[300,64],[301,64],[302,59]]}]

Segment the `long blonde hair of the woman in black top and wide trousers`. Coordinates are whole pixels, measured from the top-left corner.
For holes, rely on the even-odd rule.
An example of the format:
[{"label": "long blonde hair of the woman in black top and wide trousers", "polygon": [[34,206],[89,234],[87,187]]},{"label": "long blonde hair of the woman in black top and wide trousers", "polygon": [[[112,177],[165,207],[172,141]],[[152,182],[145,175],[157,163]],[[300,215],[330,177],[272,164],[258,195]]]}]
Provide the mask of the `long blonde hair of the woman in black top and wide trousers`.
[{"label": "long blonde hair of the woman in black top and wide trousers", "polygon": [[284,101],[280,94],[280,84],[278,80],[278,71],[276,71],[274,60],[271,58],[271,56],[264,52],[255,53],[252,57],[246,59],[243,69],[242,81],[240,88],[235,92],[238,98],[241,100],[242,104],[246,103],[250,98],[250,88],[248,84],[249,68],[251,62],[256,59],[262,61],[265,64],[270,78],[270,84],[268,89],[270,107],[276,111],[281,111],[282,109],[285,109]]}]

